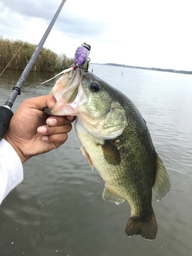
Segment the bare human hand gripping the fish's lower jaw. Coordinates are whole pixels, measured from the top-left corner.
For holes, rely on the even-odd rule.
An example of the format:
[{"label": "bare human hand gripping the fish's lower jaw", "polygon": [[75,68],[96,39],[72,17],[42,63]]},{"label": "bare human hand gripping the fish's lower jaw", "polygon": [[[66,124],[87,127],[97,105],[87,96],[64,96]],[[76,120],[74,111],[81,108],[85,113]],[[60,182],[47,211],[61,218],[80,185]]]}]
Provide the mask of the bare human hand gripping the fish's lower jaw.
[{"label": "bare human hand gripping the fish's lower jaw", "polygon": [[58,148],[71,131],[73,116],[49,116],[42,109],[56,102],[53,95],[25,100],[17,109],[4,139],[17,152],[22,163],[29,158]]}]

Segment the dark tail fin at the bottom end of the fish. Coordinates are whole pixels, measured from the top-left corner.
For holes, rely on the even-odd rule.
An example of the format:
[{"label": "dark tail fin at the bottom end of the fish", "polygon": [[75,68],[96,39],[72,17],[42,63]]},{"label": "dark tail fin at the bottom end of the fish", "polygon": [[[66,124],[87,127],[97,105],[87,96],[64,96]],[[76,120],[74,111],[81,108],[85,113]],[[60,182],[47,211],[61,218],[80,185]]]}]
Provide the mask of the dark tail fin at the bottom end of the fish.
[{"label": "dark tail fin at the bottom end of the fish", "polygon": [[146,220],[139,220],[137,217],[130,217],[126,227],[125,234],[129,237],[139,234],[147,240],[154,240],[157,234],[157,222],[154,211]]}]

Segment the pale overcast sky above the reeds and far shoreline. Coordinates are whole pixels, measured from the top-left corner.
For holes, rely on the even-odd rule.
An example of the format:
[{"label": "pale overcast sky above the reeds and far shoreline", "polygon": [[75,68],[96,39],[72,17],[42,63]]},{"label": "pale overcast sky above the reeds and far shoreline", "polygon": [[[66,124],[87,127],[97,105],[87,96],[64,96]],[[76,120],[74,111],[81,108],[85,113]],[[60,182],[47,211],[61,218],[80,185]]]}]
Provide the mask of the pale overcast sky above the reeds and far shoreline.
[{"label": "pale overcast sky above the reeds and far shoreline", "polygon": [[[0,0],[0,36],[38,45],[61,0]],[[44,47],[92,63],[192,71],[192,0],[67,0]]]}]

